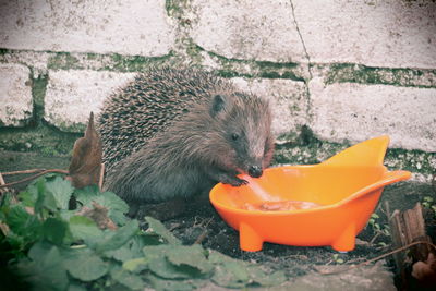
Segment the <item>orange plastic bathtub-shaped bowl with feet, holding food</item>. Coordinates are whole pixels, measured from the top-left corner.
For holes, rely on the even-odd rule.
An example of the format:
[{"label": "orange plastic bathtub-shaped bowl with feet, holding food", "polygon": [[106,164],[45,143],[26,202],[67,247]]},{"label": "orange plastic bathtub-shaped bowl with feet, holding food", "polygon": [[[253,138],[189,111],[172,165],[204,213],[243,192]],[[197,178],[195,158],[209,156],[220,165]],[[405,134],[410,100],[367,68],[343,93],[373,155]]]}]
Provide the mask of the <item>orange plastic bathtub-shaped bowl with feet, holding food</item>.
[{"label": "orange plastic bathtub-shaped bowl with feet, holding food", "polygon": [[[240,187],[217,184],[210,202],[222,219],[239,231],[243,251],[259,251],[264,242],[300,246],[330,245],[348,252],[365,227],[384,186],[407,180],[408,171],[383,166],[388,136],[365,141],[312,166],[265,170],[262,178],[242,178]],[[263,210],[246,205],[308,202],[310,209]]]}]

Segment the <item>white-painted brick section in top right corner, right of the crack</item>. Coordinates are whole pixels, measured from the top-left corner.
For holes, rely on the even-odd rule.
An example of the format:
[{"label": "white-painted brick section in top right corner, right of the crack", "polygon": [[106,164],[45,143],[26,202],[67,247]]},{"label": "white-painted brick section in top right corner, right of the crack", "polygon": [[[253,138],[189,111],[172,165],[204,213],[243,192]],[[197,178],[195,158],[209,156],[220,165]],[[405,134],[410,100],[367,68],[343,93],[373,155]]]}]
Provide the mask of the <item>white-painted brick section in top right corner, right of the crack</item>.
[{"label": "white-painted brick section in top right corner, right of the crack", "polygon": [[292,2],[312,62],[436,68],[435,1]]}]

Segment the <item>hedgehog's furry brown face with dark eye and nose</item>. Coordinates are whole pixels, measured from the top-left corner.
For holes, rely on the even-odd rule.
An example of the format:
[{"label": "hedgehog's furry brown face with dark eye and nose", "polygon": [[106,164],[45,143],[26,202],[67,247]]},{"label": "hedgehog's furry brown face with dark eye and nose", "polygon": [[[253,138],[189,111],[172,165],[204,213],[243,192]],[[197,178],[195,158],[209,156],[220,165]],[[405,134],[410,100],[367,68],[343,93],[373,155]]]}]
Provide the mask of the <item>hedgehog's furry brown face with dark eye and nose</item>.
[{"label": "hedgehog's furry brown face with dark eye and nose", "polygon": [[268,104],[244,94],[216,95],[211,110],[220,124],[220,138],[225,140],[219,150],[221,163],[253,178],[261,177],[274,150]]}]

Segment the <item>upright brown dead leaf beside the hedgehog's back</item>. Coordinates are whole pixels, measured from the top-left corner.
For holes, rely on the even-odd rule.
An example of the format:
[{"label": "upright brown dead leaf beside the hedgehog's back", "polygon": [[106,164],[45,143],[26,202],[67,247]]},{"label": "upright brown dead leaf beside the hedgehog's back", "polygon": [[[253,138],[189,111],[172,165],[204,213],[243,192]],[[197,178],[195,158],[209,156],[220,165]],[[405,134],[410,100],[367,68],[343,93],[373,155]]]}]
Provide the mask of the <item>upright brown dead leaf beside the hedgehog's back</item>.
[{"label": "upright brown dead leaf beside the hedgehog's back", "polygon": [[66,179],[72,181],[75,187],[84,187],[90,184],[99,185],[101,161],[101,140],[94,126],[94,113],[90,112],[85,136],[74,143],[73,157]]}]

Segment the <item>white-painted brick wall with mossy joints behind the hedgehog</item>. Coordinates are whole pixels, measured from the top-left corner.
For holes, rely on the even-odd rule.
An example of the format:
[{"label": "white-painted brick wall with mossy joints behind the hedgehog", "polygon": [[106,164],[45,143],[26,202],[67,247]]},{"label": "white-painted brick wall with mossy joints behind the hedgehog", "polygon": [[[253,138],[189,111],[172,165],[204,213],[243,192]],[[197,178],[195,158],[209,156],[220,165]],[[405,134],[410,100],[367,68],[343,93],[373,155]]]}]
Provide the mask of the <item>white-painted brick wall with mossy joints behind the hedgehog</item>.
[{"label": "white-painted brick wall with mossy joints behind the hedgehog", "polygon": [[183,64],[270,98],[290,162],[388,134],[388,166],[428,181],[435,19],[424,0],[0,1],[0,148],[65,154],[114,88]]}]

